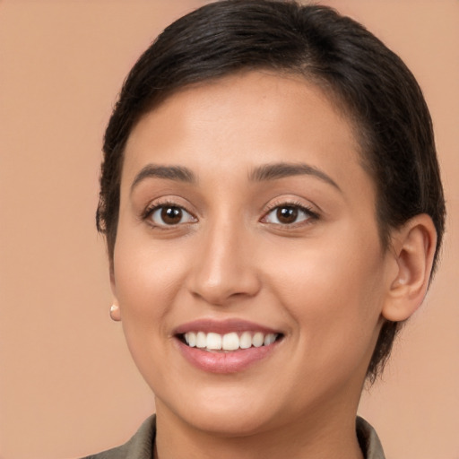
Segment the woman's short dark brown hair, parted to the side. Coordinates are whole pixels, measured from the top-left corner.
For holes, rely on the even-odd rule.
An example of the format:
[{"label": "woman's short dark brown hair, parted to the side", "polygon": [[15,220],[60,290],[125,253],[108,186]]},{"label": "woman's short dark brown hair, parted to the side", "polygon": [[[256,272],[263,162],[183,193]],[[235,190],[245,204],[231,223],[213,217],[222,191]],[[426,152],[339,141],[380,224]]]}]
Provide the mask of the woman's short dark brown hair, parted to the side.
[{"label": "woman's short dark brown hair, parted to the side", "polygon": [[[390,230],[427,213],[437,230],[445,201],[429,109],[403,61],[358,22],[333,9],[281,0],[207,4],[164,30],[126,78],[103,146],[97,227],[113,261],[126,141],[135,123],[174,91],[255,69],[299,74],[316,83],[350,117],[362,164],[377,189],[382,246]],[[399,323],[385,322],[368,367],[374,381]]]}]

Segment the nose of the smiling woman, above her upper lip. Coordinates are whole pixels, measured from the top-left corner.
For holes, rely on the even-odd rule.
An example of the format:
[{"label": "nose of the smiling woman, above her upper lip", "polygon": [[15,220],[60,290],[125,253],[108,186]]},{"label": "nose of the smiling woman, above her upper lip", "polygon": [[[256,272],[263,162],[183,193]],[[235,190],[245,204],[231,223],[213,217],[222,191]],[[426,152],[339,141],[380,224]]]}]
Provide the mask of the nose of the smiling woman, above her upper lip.
[{"label": "nose of the smiling woman, above her upper lip", "polygon": [[214,225],[195,247],[188,290],[205,302],[224,306],[234,299],[254,297],[260,290],[254,235],[238,225]]}]

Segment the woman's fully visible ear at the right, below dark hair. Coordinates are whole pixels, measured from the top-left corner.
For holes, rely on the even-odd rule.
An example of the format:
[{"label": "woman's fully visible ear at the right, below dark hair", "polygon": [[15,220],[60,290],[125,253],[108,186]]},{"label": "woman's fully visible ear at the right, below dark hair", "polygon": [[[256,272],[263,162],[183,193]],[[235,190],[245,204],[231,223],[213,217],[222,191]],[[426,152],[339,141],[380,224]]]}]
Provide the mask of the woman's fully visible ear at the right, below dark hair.
[{"label": "woman's fully visible ear at the right, below dark hair", "polygon": [[425,213],[394,231],[392,254],[397,269],[382,310],[385,319],[401,322],[420,307],[429,287],[436,246],[437,231]]}]

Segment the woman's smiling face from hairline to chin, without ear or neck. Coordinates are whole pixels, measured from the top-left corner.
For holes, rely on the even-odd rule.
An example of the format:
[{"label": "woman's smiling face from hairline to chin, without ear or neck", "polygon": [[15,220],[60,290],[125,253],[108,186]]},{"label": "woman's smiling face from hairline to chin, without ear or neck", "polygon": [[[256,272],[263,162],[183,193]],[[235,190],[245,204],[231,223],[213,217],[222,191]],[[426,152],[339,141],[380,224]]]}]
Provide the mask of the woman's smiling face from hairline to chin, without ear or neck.
[{"label": "woman's smiling face from hairline to chin, without ear or neck", "polygon": [[375,215],[350,123],[299,77],[232,75],[145,115],[112,284],[161,416],[247,435],[355,413],[391,265]]}]

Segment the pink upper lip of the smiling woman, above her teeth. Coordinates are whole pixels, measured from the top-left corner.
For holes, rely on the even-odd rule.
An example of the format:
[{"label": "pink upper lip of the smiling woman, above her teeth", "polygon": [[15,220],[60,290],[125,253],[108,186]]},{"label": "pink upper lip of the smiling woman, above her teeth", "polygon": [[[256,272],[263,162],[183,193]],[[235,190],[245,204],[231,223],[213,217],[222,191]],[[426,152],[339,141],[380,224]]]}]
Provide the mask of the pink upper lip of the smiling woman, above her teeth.
[{"label": "pink upper lip of the smiling woman, above her teeth", "polygon": [[186,324],[179,325],[174,334],[184,334],[187,332],[204,332],[204,333],[231,333],[231,332],[261,332],[261,333],[281,333],[279,330],[255,324],[239,318],[230,318],[224,320],[203,318],[197,319]]}]

